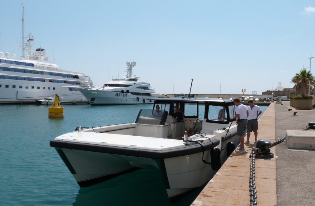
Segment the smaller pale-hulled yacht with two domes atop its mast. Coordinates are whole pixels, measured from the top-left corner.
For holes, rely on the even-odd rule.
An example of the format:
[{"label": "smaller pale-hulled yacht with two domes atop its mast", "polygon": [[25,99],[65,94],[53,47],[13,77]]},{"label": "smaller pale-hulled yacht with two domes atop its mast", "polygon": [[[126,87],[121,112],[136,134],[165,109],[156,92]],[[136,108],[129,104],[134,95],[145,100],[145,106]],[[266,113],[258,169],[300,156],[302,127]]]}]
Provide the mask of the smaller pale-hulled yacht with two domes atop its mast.
[{"label": "smaller pale-hulled yacht with two domes atop its mast", "polygon": [[106,104],[150,104],[155,93],[150,83],[140,82],[140,76],[132,74],[136,62],[127,61],[127,75],[122,79],[113,79],[102,87],[80,89],[91,105]]}]

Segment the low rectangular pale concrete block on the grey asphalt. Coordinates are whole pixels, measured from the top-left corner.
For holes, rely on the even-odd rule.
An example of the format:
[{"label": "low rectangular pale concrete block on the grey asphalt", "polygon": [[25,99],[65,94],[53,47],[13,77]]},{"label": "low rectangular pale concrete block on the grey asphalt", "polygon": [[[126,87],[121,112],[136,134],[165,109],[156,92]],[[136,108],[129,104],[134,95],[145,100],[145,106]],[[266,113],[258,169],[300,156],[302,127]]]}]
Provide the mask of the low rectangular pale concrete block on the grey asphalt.
[{"label": "low rectangular pale concrete block on the grey asphalt", "polygon": [[315,150],[315,131],[287,130],[286,133],[289,149]]}]

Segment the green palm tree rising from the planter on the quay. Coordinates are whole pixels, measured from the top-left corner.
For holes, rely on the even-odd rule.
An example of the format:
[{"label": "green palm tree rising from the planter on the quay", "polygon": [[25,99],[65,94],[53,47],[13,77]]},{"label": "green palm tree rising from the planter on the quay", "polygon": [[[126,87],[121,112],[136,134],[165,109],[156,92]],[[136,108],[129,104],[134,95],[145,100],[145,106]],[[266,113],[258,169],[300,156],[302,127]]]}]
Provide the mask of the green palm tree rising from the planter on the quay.
[{"label": "green palm tree rising from the planter on the quay", "polygon": [[308,87],[309,81],[311,82],[310,84],[313,85],[315,79],[311,71],[306,71],[305,69],[301,70],[300,73],[296,73],[291,79],[291,83],[295,83],[295,88],[301,88],[302,99],[305,99],[306,87]]}]

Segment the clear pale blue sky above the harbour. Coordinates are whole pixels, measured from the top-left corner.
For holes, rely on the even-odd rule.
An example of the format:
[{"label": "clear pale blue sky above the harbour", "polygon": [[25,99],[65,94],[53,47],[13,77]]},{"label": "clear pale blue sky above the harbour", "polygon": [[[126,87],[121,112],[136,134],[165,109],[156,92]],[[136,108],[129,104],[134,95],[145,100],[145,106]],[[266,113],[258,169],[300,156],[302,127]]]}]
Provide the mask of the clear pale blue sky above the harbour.
[{"label": "clear pale blue sky above the harbour", "polygon": [[22,2],[32,48],[98,86],[131,60],[157,93],[189,93],[193,78],[192,93],[261,94],[292,88],[315,56],[313,1],[2,1],[0,51],[17,58]]}]

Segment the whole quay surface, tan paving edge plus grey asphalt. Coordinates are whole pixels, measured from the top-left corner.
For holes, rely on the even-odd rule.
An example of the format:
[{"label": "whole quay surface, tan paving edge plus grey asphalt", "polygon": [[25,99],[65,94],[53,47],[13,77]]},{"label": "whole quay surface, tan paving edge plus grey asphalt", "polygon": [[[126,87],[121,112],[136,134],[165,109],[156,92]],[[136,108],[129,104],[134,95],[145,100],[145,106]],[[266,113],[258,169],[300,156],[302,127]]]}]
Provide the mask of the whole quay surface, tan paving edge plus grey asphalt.
[{"label": "whole quay surface, tan paving edge plus grey asphalt", "polygon": [[[299,111],[293,116],[284,105],[272,103],[259,121],[258,139],[274,142],[286,135],[286,130],[302,130],[308,122],[315,121],[314,111]],[[245,137],[246,140],[246,137]],[[249,154],[234,151],[209,181],[192,206],[249,205]],[[277,151],[277,152],[276,152]],[[258,205],[315,205],[315,151],[289,151],[285,142],[272,147],[272,159],[256,159],[256,188]]]}]

